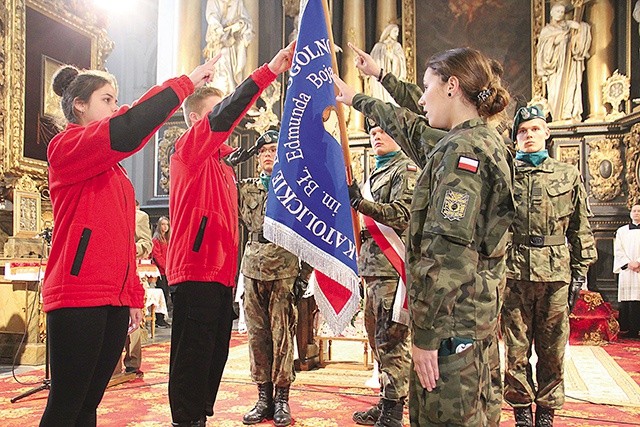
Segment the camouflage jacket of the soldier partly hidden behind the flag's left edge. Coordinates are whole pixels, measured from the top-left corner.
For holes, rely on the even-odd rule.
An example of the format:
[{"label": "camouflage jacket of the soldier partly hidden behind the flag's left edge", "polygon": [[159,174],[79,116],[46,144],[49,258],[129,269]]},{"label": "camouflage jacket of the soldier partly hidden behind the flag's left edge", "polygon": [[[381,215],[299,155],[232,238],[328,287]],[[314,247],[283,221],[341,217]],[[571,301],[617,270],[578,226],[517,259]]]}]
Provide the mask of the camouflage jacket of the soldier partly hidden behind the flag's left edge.
[{"label": "camouflage jacket of the soldier partly hidden behind the flag's left edge", "polygon": [[271,242],[258,241],[267,209],[267,194],[260,178],[243,179],[238,184],[240,221],[249,232],[240,271],[255,280],[295,277],[300,270],[298,257]]}]

